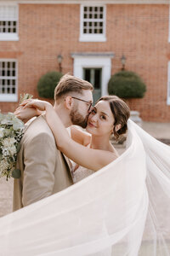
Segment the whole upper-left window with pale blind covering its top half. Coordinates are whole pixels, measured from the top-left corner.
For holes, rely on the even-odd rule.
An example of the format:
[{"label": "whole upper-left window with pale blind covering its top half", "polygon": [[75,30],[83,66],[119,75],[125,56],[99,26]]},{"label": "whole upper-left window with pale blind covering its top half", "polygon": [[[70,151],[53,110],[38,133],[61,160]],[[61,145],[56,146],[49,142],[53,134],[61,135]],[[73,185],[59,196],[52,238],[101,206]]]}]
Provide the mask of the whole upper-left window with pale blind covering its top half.
[{"label": "whole upper-left window with pale blind covering its top half", "polygon": [[0,40],[18,39],[18,6],[0,4]]}]

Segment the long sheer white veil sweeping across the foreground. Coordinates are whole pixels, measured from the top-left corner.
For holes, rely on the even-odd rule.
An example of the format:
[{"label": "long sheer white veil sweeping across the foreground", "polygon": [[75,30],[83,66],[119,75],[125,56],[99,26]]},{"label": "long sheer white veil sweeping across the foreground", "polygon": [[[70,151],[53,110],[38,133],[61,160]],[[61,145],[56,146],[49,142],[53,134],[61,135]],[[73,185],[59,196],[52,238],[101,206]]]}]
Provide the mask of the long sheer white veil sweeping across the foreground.
[{"label": "long sheer white veil sweeping across the foreground", "polygon": [[1,255],[170,255],[169,159],[129,120],[127,149],[110,165],[0,218]]}]

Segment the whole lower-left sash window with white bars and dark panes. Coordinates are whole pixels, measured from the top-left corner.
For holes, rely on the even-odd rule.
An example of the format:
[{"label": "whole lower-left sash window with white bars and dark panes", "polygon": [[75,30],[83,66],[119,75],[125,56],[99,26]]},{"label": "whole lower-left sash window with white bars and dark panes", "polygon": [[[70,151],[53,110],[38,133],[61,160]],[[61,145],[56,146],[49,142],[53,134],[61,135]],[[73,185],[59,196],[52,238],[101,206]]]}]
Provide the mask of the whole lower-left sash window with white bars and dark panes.
[{"label": "whole lower-left sash window with white bars and dark panes", "polygon": [[0,101],[17,102],[16,60],[0,60]]}]

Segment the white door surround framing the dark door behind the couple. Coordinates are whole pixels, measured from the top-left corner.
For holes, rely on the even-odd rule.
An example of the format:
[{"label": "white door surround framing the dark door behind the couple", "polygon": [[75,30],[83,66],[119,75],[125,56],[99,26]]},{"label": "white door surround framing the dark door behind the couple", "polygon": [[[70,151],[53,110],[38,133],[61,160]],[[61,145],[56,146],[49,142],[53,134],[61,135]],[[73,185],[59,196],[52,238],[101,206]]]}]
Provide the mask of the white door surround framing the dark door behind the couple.
[{"label": "white door surround framing the dark door behind the couple", "polygon": [[114,57],[112,52],[105,53],[72,53],[74,59],[73,73],[77,78],[83,79],[84,67],[102,68],[101,79],[101,96],[108,95],[107,84],[111,79],[111,58]]}]

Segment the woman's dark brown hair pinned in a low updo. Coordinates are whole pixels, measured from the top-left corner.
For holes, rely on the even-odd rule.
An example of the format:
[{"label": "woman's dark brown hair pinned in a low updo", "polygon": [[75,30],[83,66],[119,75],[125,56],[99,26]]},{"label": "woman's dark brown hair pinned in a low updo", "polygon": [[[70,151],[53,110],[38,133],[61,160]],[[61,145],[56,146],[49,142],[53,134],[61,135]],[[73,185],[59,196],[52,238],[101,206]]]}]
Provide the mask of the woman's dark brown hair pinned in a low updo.
[{"label": "woman's dark brown hair pinned in a low updo", "polygon": [[[113,124],[113,133],[115,138],[118,139],[121,134],[124,134],[127,131],[127,119],[130,117],[130,108],[128,108],[127,104],[117,96],[103,96],[99,98],[96,103],[100,101],[110,103],[111,112],[113,113],[115,119],[115,123]],[[116,125],[121,125],[121,129],[116,131]]]}]

